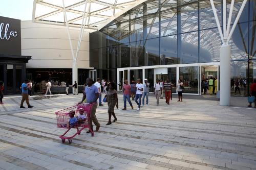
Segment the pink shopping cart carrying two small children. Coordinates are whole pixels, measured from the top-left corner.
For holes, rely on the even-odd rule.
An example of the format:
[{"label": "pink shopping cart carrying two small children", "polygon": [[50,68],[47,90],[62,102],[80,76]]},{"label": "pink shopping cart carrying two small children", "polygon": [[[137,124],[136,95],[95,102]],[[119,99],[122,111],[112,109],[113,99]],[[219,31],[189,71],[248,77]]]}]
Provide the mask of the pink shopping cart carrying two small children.
[{"label": "pink shopping cart carrying two small children", "polygon": [[[94,132],[92,131],[89,123],[92,105],[93,104],[89,103],[78,103],[77,105],[70,108],[55,112],[57,118],[57,128],[68,129],[63,135],[59,136],[62,140],[62,143],[64,143],[65,140],[68,139],[69,144],[71,144],[72,138],[75,137],[77,134],[80,135],[81,131],[84,128],[88,128],[91,131],[91,135],[94,136]],[[81,118],[82,111],[84,114],[83,118]],[[77,122],[70,123],[71,118],[77,119]],[[78,129],[79,127],[81,128]],[[73,136],[65,136],[72,128],[76,128],[77,132]]]}]

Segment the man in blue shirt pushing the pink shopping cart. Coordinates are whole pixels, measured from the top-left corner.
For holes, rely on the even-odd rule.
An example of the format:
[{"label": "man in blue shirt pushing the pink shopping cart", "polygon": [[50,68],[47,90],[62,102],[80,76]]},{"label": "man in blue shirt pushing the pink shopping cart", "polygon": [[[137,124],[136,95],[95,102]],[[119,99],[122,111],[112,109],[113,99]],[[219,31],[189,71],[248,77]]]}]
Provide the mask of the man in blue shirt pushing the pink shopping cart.
[{"label": "man in blue shirt pushing the pink shopping cart", "polygon": [[91,78],[86,79],[86,87],[84,88],[84,93],[82,97],[81,103],[87,99],[87,103],[93,104],[91,108],[91,114],[90,114],[90,128],[91,130],[88,130],[86,133],[90,133],[93,131],[93,123],[96,125],[96,132],[99,130],[100,124],[98,122],[98,119],[96,118],[96,109],[97,109],[97,100],[99,98],[99,90],[98,87],[96,87],[93,84],[93,80]]}]

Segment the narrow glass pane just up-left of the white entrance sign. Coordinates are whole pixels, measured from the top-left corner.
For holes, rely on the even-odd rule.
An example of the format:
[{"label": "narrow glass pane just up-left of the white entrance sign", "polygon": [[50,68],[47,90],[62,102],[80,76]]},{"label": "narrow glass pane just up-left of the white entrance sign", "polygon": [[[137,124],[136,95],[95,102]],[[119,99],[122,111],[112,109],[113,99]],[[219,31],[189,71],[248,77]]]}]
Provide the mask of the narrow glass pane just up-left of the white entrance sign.
[{"label": "narrow glass pane just up-left of the white entrance sign", "polygon": [[148,39],[145,41],[145,66],[159,64],[159,38]]}]

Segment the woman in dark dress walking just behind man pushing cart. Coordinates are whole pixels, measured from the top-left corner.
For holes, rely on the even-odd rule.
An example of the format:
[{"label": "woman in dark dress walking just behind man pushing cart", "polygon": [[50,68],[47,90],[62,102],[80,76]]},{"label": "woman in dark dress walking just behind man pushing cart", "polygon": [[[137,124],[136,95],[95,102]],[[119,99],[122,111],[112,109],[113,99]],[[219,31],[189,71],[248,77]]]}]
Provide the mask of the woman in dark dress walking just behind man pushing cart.
[{"label": "woman in dark dress walking just behind man pushing cart", "polygon": [[114,112],[115,106],[118,109],[118,98],[117,98],[117,92],[114,89],[115,83],[111,82],[109,84],[109,92],[106,94],[106,100],[108,101],[108,113],[109,113],[109,122],[106,125],[111,125],[111,116],[115,118],[113,122],[116,122],[117,118]]}]

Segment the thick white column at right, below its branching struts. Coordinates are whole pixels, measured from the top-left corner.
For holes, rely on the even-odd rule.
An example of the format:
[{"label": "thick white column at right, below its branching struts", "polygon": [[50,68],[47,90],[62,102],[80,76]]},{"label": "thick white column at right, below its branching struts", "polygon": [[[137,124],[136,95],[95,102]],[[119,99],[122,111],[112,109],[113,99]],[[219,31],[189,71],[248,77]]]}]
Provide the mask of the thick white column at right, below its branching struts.
[{"label": "thick white column at right, below its branching struts", "polygon": [[220,49],[220,105],[230,105],[230,45]]}]

